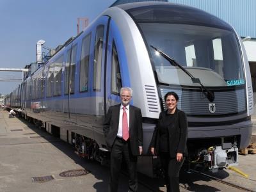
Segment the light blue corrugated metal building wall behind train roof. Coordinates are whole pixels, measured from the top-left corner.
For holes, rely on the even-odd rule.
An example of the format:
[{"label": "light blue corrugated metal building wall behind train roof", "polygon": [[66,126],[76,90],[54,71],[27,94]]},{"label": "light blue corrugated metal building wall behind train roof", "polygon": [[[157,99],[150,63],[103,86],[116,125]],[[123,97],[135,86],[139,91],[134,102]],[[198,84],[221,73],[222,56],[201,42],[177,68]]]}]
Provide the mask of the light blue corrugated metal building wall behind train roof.
[{"label": "light blue corrugated metal building wall behind train roof", "polygon": [[169,0],[216,15],[231,24],[240,36],[256,38],[256,0]]}]

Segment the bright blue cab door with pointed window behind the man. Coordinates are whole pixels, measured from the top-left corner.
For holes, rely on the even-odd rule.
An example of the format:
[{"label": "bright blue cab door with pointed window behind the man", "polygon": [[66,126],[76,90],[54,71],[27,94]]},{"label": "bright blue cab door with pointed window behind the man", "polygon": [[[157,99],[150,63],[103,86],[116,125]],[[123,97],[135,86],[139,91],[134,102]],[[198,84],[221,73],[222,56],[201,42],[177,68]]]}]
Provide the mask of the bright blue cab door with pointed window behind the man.
[{"label": "bright blue cab door with pointed window behind the man", "polygon": [[124,42],[113,20],[109,23],[106,61],[105,113],[107,113],[109,106],[120,103],[120,89],[122,86],[130,86]]}]

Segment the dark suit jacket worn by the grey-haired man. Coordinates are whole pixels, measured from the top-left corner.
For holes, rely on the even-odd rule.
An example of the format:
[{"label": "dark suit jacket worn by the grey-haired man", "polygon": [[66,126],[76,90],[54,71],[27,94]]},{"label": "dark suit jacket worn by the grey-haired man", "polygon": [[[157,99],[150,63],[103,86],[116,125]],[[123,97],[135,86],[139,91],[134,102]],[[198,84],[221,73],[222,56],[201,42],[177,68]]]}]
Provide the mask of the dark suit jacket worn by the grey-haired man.
[{"label": "dark suit jacket worn by the grey-haired man", "polygon": [[[106,144],[111,150],[116,139],[119,125],[119,113],[121,104],[111,106],[105,117],[103,132]],[[142,116],[140,108],[129,107],[129,142],[134,156],[140,155],[139,146],[143,146]]]}]

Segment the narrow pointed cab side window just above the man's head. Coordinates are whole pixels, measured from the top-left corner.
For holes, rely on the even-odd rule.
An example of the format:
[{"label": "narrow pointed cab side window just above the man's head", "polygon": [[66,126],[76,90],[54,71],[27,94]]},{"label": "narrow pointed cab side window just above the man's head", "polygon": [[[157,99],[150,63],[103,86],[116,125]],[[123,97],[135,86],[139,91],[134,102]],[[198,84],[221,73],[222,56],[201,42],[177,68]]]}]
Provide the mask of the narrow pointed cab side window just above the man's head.
[{"label": "narrow pointed cab side window just above the man's head", "polygon": [[120,64],[118,60],[118,55],[116,51],[115,42],[113,42],[112,47],[112,60],[111,60],[111,93],[115,95],[120,95],[120,90],[122,87],[122,79],[120,73]]}]

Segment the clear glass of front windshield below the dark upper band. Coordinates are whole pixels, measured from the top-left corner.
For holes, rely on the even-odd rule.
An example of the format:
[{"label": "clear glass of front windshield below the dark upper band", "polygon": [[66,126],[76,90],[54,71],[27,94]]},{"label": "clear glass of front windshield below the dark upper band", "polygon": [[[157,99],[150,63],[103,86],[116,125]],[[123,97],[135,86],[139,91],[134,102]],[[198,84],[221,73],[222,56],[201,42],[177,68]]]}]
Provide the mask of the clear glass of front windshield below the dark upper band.
[{"label": "clear glass of front windshield below the dark upper band", "polygon": [[[147,45],[154,45],[186,68],[205,86],[244,84],[236,35],[225,29],[186,24],[142,23]],[[149,47],[148,46],[148,47]],[[160,83],[196,86],[180,68],[148,48]]]}]

